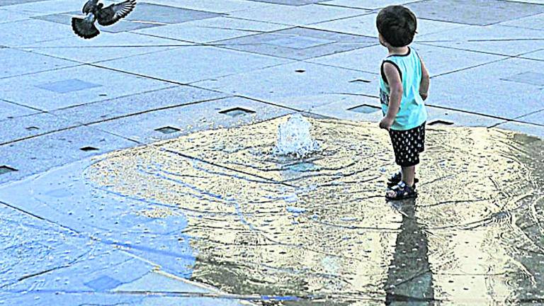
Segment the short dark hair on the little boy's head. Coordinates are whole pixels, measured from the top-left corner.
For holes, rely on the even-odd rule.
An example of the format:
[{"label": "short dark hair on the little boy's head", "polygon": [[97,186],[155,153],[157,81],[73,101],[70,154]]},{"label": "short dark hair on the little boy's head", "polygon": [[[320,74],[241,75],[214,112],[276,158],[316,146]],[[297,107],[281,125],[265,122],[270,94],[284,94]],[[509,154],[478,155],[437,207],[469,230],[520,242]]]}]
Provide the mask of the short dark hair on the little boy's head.
[{"label": "short dark hair on the little boy's head", "polygon": [[376,27],[387,43],[404,47],[414,40],[416,16],[404,6],[387,6],[378,13]]}]

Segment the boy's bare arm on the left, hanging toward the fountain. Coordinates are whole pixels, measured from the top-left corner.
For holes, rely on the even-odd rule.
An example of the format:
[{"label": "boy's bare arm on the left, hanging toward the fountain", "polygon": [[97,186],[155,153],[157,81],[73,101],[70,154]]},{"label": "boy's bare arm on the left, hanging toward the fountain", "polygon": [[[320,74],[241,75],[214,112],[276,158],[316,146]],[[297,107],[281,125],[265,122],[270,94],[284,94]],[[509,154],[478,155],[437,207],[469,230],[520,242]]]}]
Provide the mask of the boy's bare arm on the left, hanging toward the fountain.
[{"label": "boy's bare arm on the left, hanging toward the fountain", "polygon": [[383,64],[383,73],[387,79],[387,84],[389,84],[390,94],[389,94],[389,107],[387,108],[387,114],[380,122],[380,128],[385,128],[389,130],[397,113],[399,113],[400,101],[402,101],[402,80],[400,79],[399,71],[397,67],[389,62]]}]

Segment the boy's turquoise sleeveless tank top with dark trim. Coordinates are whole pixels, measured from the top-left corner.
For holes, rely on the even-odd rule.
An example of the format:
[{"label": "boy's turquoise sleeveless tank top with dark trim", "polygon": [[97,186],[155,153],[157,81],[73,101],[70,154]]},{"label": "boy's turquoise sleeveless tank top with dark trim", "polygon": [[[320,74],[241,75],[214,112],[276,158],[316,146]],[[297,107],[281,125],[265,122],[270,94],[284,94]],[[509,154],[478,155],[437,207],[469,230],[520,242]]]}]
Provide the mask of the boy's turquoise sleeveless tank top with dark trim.
[{"label": "boy's turquoise sleeveless tank top with dark trim", "polygon": [[402,100],[399,113],[391,126],[392,130],[410,130],[427,120],[427,111],[421,96],[421,61],[417,52],[409,47],[407,55],[390,55],[382,61],[382,77],[380,77],[380,101],[383,115],[389,106],[390,88],[383,74],[383,64],[390,62],[397,67],[402,79]]}]

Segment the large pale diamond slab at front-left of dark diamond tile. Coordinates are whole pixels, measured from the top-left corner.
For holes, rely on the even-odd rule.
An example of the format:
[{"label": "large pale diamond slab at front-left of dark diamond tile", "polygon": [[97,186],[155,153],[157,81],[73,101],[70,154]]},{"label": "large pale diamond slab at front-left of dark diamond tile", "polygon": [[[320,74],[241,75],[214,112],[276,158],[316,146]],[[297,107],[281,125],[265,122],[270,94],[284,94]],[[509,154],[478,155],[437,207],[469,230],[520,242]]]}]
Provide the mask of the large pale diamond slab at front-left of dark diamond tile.
[{"label": "large pale diamond slab at front-left of dark diamond tile", "polygon": [[[171,59],[176,58],[175,62]],[[232,63],[236,62],[236,65]],[[103,62],[102,67],[175,81],[183,84],[283,64],[288,60],[217,47],[181,47],[151,55]]]}]

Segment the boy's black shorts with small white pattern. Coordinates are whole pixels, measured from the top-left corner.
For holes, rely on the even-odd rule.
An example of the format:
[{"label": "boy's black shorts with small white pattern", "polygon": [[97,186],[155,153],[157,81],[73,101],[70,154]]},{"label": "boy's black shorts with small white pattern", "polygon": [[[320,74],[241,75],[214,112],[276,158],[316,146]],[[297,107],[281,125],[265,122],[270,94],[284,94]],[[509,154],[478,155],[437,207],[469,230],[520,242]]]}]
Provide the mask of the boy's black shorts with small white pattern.
[{"label": "boy's black shorts with small white pattern", "polygon": [[389,135],[399,166],[419,164],[419,153],[425,150],[425,123],[411,130],[389,130]]}]

